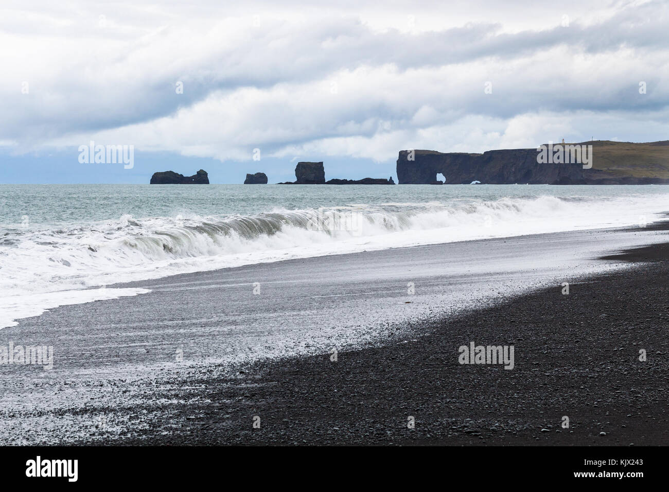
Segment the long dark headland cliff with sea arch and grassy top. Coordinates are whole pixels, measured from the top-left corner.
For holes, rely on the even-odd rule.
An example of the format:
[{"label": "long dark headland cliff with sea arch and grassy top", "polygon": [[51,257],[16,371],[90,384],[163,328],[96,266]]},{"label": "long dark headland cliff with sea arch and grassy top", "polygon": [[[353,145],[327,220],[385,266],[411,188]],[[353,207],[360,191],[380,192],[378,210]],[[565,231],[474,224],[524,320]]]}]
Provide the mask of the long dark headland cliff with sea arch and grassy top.
[{"label": "long dark headland cliff with sea arch and grassy top", "polygon": [[[397,181],[400,184],[669,184],[669,141],[628,143],[590,141],[591,169],[582,163],[540,163],[537,149],[487,151],[482,154],[400,151]],[[557,149],[559,144],[554,144]]]}]

